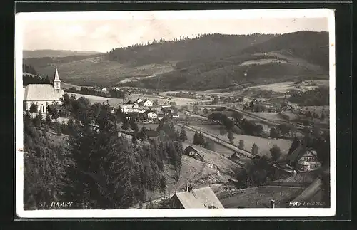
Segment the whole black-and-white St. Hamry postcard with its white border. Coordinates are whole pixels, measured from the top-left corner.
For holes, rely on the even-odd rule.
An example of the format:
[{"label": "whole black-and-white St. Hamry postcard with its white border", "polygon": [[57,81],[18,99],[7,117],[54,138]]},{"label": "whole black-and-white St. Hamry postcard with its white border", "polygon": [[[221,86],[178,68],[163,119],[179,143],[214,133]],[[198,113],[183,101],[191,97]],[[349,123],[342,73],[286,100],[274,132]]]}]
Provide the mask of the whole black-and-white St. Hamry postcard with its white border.
[{"label": "whole black-and-white St. Hamry postcard with its white border", "polygon": [[333,216],[334,25],[333,9],[16,14],[16,214]]}]

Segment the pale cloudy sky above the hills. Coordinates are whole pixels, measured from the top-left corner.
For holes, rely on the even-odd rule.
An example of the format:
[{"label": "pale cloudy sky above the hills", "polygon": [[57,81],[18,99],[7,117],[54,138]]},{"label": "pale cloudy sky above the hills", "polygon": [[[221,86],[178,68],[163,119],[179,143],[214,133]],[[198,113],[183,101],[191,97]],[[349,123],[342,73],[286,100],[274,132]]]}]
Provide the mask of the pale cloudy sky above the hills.
[{"label": "pale cloudy sky above the hills", "polygon": [[[71,51],[111,51],[112,48],[131,46],[147,41],[173,40],[181,36],[195,37],[204,33],[251,34],[291,33],[295,31],[328,31],[328,18],[297,14],[260,16],[247,19],[243,16],[223,14],[164,15],[146,11],[146,14],[126,14],[120,17],[79,16],[57,14],[51,17],[27,16],[21,19],[24,50],[55,49]],[[161,11],[162,12],[162,11]],[[211,16],[210,16],[211,15]],[[212,16],[214,15],[214,16]],[[221,16],[220,16],[221,15]],[[239,14],[243,15],[243,14]],[[248,16],[251,14],[247,14]],[[276,14],[277,15],[277,14]],[[291,17],[290,17],[291,16]]]}]

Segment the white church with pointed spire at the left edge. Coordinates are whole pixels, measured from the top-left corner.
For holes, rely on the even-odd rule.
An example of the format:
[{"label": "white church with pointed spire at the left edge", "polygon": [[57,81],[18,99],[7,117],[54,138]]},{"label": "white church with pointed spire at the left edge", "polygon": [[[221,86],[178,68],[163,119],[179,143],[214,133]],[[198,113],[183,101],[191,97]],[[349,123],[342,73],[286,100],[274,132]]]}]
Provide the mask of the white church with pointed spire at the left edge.
[{"label": "white church with pointed spire at the left edge", "polygon": [[59,72],[56,68],[53,84],[29,84],[23,88],[24,90],[24,111],[30,110],[32,103],[37,105],[37,112],[47,113],[47,105],[59,105],[59,98],[64,95],[64,90],[61,89],[61,80],[59,80]]}]

